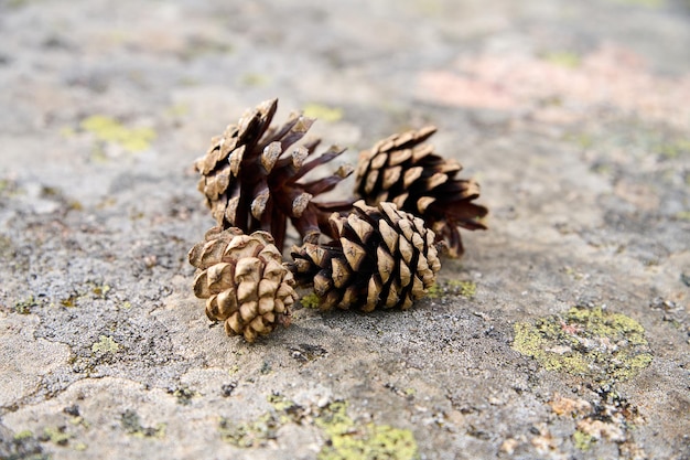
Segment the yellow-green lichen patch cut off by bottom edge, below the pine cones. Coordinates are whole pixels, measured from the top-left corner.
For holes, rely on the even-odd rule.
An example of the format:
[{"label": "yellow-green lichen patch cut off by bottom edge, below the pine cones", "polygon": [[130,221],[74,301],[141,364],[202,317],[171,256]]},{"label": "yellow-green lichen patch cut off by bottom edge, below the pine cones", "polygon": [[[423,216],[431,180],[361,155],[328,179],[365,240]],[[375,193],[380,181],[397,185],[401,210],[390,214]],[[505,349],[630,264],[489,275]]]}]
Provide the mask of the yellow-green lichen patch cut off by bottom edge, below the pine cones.
[{"label": "yellow-green lichen patch cut off by bottom edge, below the pine cones", "polygon": [[418,458],[412,431],[389,425],[357,424],[347,415],[347,403],[334,402],[316,418],[328,440],[320,460],[402,460]]}]

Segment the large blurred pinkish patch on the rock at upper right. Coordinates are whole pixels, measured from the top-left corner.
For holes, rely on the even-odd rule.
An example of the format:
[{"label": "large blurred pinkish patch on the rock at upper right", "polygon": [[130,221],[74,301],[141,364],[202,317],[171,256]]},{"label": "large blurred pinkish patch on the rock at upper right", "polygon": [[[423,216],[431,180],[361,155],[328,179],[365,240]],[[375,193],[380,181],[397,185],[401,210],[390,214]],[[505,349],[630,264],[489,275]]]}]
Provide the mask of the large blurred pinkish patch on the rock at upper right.
[{"label": "large blurred pinkish patch on the rock at upper right", "polygon": [[568,67],[535,56],[462,57],[450,69],[419,75],[418,97],[436,104],[530,109],[567,121],[613,109],[679,126],[690,122],[690,75],[653,74],[629,50],[604,45]]}]

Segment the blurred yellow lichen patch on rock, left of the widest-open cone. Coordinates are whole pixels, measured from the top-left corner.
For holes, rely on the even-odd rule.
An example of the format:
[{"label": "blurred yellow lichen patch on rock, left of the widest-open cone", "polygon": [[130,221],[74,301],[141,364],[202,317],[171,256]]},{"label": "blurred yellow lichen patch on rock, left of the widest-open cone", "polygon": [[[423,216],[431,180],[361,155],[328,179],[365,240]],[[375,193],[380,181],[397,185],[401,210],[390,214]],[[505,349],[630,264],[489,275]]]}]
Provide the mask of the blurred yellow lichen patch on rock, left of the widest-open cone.
[{"label": "blurred yellow lichen patch on rock, left of the widest-open cone", "polygon": [[82,120],[80,127],[91,132],[97,140],[120,145],[125,150],[138,152],[147,150],[157,137],[152,128],[128,128],[115,118],[93,115]]}]

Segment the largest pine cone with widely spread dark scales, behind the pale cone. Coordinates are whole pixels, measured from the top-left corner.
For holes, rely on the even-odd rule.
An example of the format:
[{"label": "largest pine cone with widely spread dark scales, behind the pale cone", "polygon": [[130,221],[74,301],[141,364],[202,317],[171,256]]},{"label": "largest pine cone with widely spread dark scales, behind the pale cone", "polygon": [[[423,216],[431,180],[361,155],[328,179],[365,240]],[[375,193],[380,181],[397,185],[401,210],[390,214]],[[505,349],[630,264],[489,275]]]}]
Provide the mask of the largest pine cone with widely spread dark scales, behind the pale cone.
[{"label": "largest pine cone with widely spread dark scales, behind the pale cone", "polygon": [[202,174],[198,190],[219,226],[238,227],[245,233],[268,231],[282,250],[288,218],[302,238],[316,240],[321,231],[330,231],[332,212],[352,207],[352,201],[316,203],[312,199],[332,190],[353,168],[343,165],[330,176],[297,182],[345,149],[332,146],[305,162],[321,141],[291,146],[302,139],[314,119],[292,114],[280,128],[270,128],[277,107],[278,99],[272,99],[247,110],[237,125],[229,125],[223,136],[212,139],[206,156],[194,165]]}]

